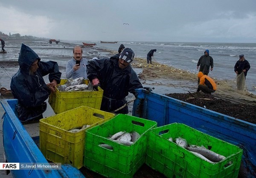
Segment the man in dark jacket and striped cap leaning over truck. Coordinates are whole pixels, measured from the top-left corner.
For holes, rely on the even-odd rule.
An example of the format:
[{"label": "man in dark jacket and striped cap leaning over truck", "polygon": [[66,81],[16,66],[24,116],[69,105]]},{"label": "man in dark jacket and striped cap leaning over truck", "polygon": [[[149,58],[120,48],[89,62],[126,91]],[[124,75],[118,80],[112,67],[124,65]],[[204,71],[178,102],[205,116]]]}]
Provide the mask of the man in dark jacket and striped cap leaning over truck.
[{"label": "man in dark jacket and striped cap leaning over truck", "polygon": [[[136,95],[135,89],[143,88],[136,72],[131,68],[131,61],[134,52],[130,48],[125,48],[121,54],[116,54],[110,59],[102,58],[88,61],[87,77],[93,83],[93,88],[101,87],[103,92],[101,110],[113,112],[119,109],[127,101],[125,97],[128,92]],[[116,113],[127,114],[128,107]]]}]

